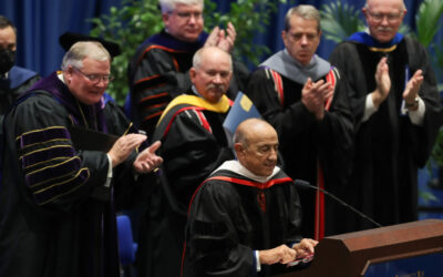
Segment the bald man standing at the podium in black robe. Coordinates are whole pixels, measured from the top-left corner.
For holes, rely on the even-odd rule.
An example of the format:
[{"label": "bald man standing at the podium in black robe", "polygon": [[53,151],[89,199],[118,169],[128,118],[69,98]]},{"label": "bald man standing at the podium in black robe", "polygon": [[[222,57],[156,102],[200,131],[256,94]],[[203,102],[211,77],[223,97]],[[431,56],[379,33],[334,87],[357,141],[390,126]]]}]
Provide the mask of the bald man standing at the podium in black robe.
[{"label": "bald man standing at the podium in black robe", "polygon": [[270,276],[313,255],[293,182],[277,166],[275,129],[246,120],[234,143],[238,161],[220,165],[189,204],[184,277]]}]

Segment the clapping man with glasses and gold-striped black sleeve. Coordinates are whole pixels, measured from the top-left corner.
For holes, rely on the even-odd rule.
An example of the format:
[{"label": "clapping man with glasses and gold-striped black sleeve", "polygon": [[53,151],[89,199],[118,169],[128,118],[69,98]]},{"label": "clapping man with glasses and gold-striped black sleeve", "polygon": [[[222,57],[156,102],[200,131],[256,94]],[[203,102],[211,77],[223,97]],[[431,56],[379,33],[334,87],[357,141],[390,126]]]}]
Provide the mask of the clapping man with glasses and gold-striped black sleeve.
[{"label": "clapping man with glasses and gold-striped black sleeve", "polygon": [[110,69],[101,43],[78,42],[6,115],[1,276],[120,276],[115,209],[163,161],[161,143],[136,153],[146,136],[104,104]]}]

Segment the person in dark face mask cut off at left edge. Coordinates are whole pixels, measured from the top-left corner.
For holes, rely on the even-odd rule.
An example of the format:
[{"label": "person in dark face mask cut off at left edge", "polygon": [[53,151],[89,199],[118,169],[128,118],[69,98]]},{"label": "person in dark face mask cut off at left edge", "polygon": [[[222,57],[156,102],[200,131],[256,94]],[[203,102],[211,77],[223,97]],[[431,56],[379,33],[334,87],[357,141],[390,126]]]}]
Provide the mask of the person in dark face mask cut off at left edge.
[{"label": "person in dark face mask cut off at left edge", "polygon": [[[33,71],[14,65],[17,50],[17,29],[3,16],[0,16],[0,116],[12,102],[25,92],[40,75]],[[1,119],[0,119],[1,121]],[[1,131],[0,131],[1,132]]]}]

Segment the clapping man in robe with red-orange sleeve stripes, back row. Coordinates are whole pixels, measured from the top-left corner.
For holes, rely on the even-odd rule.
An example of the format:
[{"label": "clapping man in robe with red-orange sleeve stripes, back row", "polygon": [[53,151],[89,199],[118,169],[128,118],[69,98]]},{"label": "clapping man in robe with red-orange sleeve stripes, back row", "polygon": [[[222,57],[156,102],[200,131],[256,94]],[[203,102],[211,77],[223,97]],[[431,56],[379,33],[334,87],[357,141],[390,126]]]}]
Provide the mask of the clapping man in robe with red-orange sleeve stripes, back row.
[{"label": "clapping man in robe with red-orange sleeve stripes, back row", "polygon": [[[128,66],[132,120],[146,132],[151,141],[155,125],[166,105],[190,89],[189,69],[194,53],[203,47],[217,47],[230,52],[236,30],[203,31],[204,0],[159,0],[165,29],[146,39]],[[234,74],[226,95],[234,100],[244,91],[248,69],[234,62]]]}]

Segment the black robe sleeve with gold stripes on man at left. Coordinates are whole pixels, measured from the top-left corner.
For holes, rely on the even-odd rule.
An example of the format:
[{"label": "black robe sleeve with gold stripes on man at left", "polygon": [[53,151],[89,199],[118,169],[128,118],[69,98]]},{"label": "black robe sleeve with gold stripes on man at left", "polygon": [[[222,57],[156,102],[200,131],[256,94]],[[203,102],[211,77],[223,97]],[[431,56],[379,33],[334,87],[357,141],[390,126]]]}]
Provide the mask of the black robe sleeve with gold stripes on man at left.
[{"label": "black robe sleeve with gold stripes on man at left", "polygon": [[106,181],[106,153],[74,148],[66,111],[50,96],[31,96],[14,110],[16,145],[30,199],[69,211]]}]

